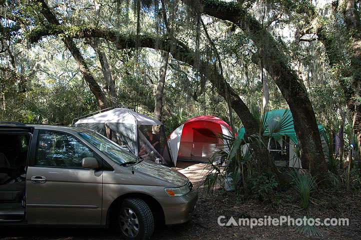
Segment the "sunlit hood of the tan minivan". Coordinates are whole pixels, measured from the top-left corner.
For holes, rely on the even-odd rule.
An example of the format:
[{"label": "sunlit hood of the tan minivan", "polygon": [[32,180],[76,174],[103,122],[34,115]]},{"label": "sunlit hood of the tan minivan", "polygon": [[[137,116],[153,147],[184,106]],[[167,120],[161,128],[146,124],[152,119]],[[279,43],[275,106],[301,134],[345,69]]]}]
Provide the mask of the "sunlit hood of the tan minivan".
[{"label": "sunlit hood of the tan minivan", "polygon": [[[159,180],[172,183],[176,186],[183,186],[188,182],[188,178],[176,170],[152,161],[142,160],[140,163],[135,164],[133,168],[139,173],[156,177]],[[135,174],[137,173],[135,172]]]}]

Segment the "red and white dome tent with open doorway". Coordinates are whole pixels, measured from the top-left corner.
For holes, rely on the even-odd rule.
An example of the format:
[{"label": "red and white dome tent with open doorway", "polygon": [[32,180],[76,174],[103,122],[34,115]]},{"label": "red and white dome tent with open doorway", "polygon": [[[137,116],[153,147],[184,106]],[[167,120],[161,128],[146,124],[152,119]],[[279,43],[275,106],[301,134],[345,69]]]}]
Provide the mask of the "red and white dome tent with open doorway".
[{"label": "red and white dome tent with open doorway", "polygon": [[185,121],[168,137],[174,165],[177,159],[204,162],[215,150],[228,151],[217,137],[220,134],[232,135],[230,126],[218,117],[201,115]]}]

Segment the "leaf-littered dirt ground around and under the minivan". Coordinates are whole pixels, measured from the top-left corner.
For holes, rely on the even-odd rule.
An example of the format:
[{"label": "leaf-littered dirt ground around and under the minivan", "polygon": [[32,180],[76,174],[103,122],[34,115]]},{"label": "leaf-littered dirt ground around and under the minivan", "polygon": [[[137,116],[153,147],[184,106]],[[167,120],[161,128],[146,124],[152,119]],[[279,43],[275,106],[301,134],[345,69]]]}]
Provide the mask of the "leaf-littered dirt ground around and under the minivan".
[{"label": "leaf-littered dirt ground around and under the minivan", "polygon": [[[307,211],[300,210],[299,198],[290,188],[278,193],[275,202],[256,199],[242,201],[232,193],[217,189],[212,195],[205,195],[199,188],[206,172],[204,164],[177,163],[177,170],[185,174],[198,187],[199,199],[191,220],[175,226],[156,226],[151,239],[359,239],[361,238],[361,193],[353,190],[318,189]],[[348,226],[319,226],[319,235],[305,235],[292,226],[219,226],[217,219],[223,215],[226,222],[231,216],[238,218],[279,218],[290,215],[293,218],[309,215],[325,219],[343,217],[349,219]],[[116,232],[97,228],[45,228],[45,227],[3,227],[0,240],[10,239],[119,239]]]}]

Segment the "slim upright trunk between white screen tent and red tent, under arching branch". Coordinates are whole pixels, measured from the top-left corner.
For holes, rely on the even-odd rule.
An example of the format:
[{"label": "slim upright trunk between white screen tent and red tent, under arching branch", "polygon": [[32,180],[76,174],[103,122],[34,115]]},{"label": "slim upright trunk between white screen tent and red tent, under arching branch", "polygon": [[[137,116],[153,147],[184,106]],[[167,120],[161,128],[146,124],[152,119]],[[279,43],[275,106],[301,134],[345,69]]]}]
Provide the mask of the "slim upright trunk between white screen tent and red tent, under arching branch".
[{"label": "slim upright trunk between white screen tent and red tent, under arching branch", "polygon": [[161,51],[159,80],[158,80],[158,84],[156,85],[155,107],[154,107],[154,115],[159,121],[161,121],[161,117],[162,117],[163,92],[164,92],[166,67],[168,65],[168,58],[169,58],[169,52]]}]

